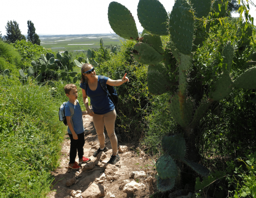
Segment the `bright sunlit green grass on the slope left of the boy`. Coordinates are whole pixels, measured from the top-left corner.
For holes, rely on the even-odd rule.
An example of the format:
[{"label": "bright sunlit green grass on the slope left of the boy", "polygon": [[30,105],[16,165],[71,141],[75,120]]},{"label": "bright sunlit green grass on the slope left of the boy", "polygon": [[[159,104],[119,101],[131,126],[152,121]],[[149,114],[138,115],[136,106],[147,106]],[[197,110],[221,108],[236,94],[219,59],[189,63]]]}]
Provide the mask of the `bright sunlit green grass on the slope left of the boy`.
[{"label": "bright sunlit green grass on the slope left of the boy", "polygon": [[0,90],[0,197],[45,197],[66,128],[58,121],[65,95],[16,77],[0,76]]}]

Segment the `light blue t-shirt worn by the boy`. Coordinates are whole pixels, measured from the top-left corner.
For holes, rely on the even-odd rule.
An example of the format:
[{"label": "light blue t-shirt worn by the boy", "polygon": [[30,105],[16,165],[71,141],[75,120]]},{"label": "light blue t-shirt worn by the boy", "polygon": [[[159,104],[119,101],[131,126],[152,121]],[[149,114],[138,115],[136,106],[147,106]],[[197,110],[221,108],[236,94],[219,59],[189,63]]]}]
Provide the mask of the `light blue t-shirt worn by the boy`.
[{"label": "light blue t-shirt worn by the boy", "polygon": [[[73,104],[71,103],[71,105]],[[83,128],[82,110],[78,102],[77,102],[77,105],[73,105],[73,107],[74,107],[74,115],[72,116],[73,128],[76,134],[80,134],[85,130]],[[70,107],[68,105],[65,105],[65,116],[71,116]],[[72,134],[69,127],[67,127],[67,132]]]}]

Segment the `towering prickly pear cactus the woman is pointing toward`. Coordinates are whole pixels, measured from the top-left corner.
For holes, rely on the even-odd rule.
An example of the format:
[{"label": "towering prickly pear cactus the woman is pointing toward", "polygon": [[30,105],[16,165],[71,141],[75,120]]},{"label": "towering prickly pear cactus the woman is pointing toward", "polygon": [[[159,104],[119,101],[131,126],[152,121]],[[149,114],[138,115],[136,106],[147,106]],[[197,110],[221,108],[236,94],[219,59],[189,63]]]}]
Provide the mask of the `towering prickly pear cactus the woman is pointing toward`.
[{"label": "towering prickly pear cactus the woman is pointing toward", "polygon": [[[157,188],[160,191],[171,190],[174,187],[176,177],[179,175],[177,174],[179,168],[176,164],[178,161],[183,162],[200,175],[209,175],[208,169],[194,162],[193,155],[188,155],[189,152],[193,154],[191,150],[195,147],[193,145],[195,127],[211,103],[227,97],[233,87],[256,88],[256,67],[252,67],[253,63],[251,63],[254,59],[253,54],[250,57],[250,68],[235,81],[230,77],[236,55],[233,44],[228,42],[224,45],[222,52],[223,73],[213,78],[207,98],[195,102],[189,94],[188,87],[191,83],[189,71],[193,68],[192,52],[201,47],[208,38],[211,25],[210,23],[203,24],[198,18],[223,17],[227,4],[228,1],[225,0],[216,0],[213,4],[211,0],[176,0],[168,17],[165,8],[158,0],[140,0],[137,16],[141,26],[144,27],[141,38],[138,38],[134,18],[130,11],[117,2],[111,2],[109,5],[108,16],[111,28],[119,36],[136,41],[132,52],[135,60],[149,65],[147,72],[149,92],[154,95],[171,93],[169,100],[171,116],[181,126],[181,131],[176,135],[165,136],[162,140],[164,155],[156,162]],[[214,14],[209,14],[211,10],[215,11]],[[248,32],[250,34],[250,29]],[[160,39],[160,36],[164,35],[170,36],[170,43],[166,48],[163,48]],[[248,46],[248,39],[244,41],[247,41],[244,43]],[[242,44],[240,46],[243,47]],[[175,73],[175,75],[170,77],[169,73]],[[187,147],[190,149],[186,149]]]}]

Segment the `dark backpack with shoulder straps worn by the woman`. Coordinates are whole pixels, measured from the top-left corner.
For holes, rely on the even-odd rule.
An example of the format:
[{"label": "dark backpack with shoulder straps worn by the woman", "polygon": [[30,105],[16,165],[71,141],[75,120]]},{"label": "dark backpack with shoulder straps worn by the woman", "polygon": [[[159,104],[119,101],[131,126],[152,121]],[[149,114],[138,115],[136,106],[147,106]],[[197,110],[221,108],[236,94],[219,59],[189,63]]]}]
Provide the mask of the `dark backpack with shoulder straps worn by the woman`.
[{"label": "dark backpack with shoulder straps worn by the woman", "polygon": [[[100,85],[102,87],[102,89],[107,93],[107,95],[109,96],[110,100],[114,103],[115,105],[115,110],[116,110],[116,113],[118,112],[118,96],[117,96],[117,92],[116,92],[116,89],[111,86],[111,85],[107,85],[104,81],[104,78],[105,76],[100,76],[99,75],[99,78],[100,78]],[[85,84],[87,86],[87,84]],[[86,91],[86,87],[85,86],[85,91]],[[86,92],[86,95],[87,95],[87,92]]]}]

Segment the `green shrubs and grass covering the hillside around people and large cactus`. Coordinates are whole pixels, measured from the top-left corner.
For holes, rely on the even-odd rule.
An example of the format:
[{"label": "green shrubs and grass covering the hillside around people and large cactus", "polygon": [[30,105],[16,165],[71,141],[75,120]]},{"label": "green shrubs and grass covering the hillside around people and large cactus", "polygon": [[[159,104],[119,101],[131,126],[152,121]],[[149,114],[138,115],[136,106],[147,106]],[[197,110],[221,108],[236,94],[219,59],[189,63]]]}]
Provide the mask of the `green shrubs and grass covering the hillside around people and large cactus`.
[{"label": "green shrubs and grass covering the hillside around people and large cactus", "polygon": [[[194,67],[188,73],[189,82],[195,83],[189,85],[189,91],[202,84],[210,87],[211,77],[223,72],[223,48],[228,41],[237,42],[237,26],[242,27],[238,19],[227,17],[224,22],[225,26],[219,23],[211,27],[208,38],[194,51]],[[254,27],[252,30],[250,48],[232,65],[230,76],[234,79],[252,67],[246,65],[256,51]],[[163,48],[169,49],[170,36],[160,38]],[[98,42],[100,48],[88,53],[61,54],[24,40],[13,44],[0,41],[0,197],[45,197],[50,191],[50,172],[58,167],[66,132],[58,120],[58,108],[67,100],[63,86],[75,83],[79,87],[84,62],[95,66],[97,75],[114,80],[124,73],[129,77],[129,83],[117,87],[120,102],[116,133],[122,140],[140,144],[147,154],[160,157],[165,152],[162,137],[181,130],[169,106],[173,92],[149,93],[149,66],[138,62],[132,53],[137,42],[124,41],[117,50],[114,46],[106,48],[103,39]],[[177,71],[167,72],[170,81]],[[82,101],[80,88],[78,100]],[[195,147],[200,163],[211,175],[202,177],[190,171],[177,188],[190,184],[198,197],[206,191],[212,197],[255,197],[255,104],[255,89],[233,88],[227,97],[209,107],[198,122]],[[189,172],[188,167],[181,167]]]}]

